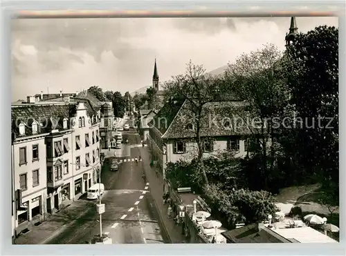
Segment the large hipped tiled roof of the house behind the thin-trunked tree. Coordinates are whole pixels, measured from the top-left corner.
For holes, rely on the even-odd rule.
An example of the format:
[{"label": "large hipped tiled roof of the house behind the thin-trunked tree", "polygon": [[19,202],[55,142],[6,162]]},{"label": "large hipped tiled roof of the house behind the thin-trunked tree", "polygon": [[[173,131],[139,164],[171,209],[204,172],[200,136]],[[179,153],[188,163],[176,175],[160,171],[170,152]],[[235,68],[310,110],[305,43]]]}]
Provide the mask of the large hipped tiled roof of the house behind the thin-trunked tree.
[{"label": "large hipped tiled roof of the house behind the thin-trunked tree", "polygon": [[[178,101],[176,104],[167,102],[149,124],[161,132],[163,139],[195,137],[196,121],[190,104],[187,100],[183,104]],[[218,101],[205,104],[202,109],[201,137],[251,134],[248,123],[244,120],[244,113],[241,113],[244,111],[244,106],[246,106],[244,101]],[[188,124],[192,125],[192,130],[187,128]]]}]

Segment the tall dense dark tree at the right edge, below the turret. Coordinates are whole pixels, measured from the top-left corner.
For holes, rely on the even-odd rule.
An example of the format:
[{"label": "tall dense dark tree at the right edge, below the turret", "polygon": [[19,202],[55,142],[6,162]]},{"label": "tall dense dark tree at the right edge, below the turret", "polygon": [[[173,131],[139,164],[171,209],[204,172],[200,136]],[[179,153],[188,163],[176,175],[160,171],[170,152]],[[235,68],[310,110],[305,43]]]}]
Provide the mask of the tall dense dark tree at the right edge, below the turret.
[{"label": "tall dense dark tree at the right edge, below the turret", "polygon": [[307,175],[338,189],[338,28],[300,33],[286,53],[291,103],[299,115],[291,134],[296,158]]}]

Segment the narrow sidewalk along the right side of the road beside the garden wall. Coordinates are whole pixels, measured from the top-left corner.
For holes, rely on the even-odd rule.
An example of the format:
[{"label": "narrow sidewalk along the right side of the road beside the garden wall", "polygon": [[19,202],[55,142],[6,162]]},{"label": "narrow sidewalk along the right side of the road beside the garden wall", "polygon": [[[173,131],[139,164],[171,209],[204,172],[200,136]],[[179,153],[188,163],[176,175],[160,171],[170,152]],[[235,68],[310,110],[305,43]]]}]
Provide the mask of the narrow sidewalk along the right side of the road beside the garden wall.
[{"label": "narrow sidewalk along the right side of the road beside the garden wall", "polygon": [[147,148],[140,148],[140,155],[143,158],[143,166],[147,182],[149,182],[149,190],[156,202],[158,214],[161,217],[165,231],[170,238],[171,244],[185,243],[185,235],[182,234],[182,227],[177,226],[173,219],[167,217],[167,205],[163,204],[163,180],[162,177],[156,177],[154,168],[150,167],[150,154]]}]

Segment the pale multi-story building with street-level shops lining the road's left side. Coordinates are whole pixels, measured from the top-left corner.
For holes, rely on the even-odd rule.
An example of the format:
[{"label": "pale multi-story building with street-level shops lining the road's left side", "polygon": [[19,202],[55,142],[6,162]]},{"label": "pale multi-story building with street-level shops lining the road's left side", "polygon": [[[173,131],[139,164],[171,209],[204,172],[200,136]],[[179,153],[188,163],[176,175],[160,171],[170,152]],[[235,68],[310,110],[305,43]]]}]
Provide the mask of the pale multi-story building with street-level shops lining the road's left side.
[{"label": "pale multi-story building with street-level shops lining the road's left side", "polygon": [[12,106],[15,228],[20,233],[78,197],[100,170],[100,117],[84,103]]}]

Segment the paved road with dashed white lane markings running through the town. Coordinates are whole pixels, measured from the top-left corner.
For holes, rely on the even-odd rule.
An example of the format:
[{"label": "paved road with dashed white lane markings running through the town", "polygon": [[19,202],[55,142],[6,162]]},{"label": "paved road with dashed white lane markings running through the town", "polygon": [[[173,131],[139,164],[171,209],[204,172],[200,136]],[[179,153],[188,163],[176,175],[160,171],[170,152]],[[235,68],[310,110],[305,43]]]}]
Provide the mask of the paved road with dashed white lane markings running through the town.
[{"label": "paved road with dashed white lane markings running through the town", "polygon": [[[119,170],[111,171],[107,162],[102,168],[101,179],[106,189],[102,197],[102,203],[106,204],[106,213],[102,215],[102,233],[107,233],[113,244],[164,243],[166,235],[161,233],[149,184],[142,178],[143,163],[136,164],[134,161],[139,155],[140,138],[133,130],[122,133],[129,139],[129,144],[122,145],[122,149],[116,152],[117,157],[111,157],[121,162]],[[86,202],[86,199],[80,200]],[[91,207],[71,228],[49,244],[84,244],[98,234],[99,215],[95,207]]]}]

